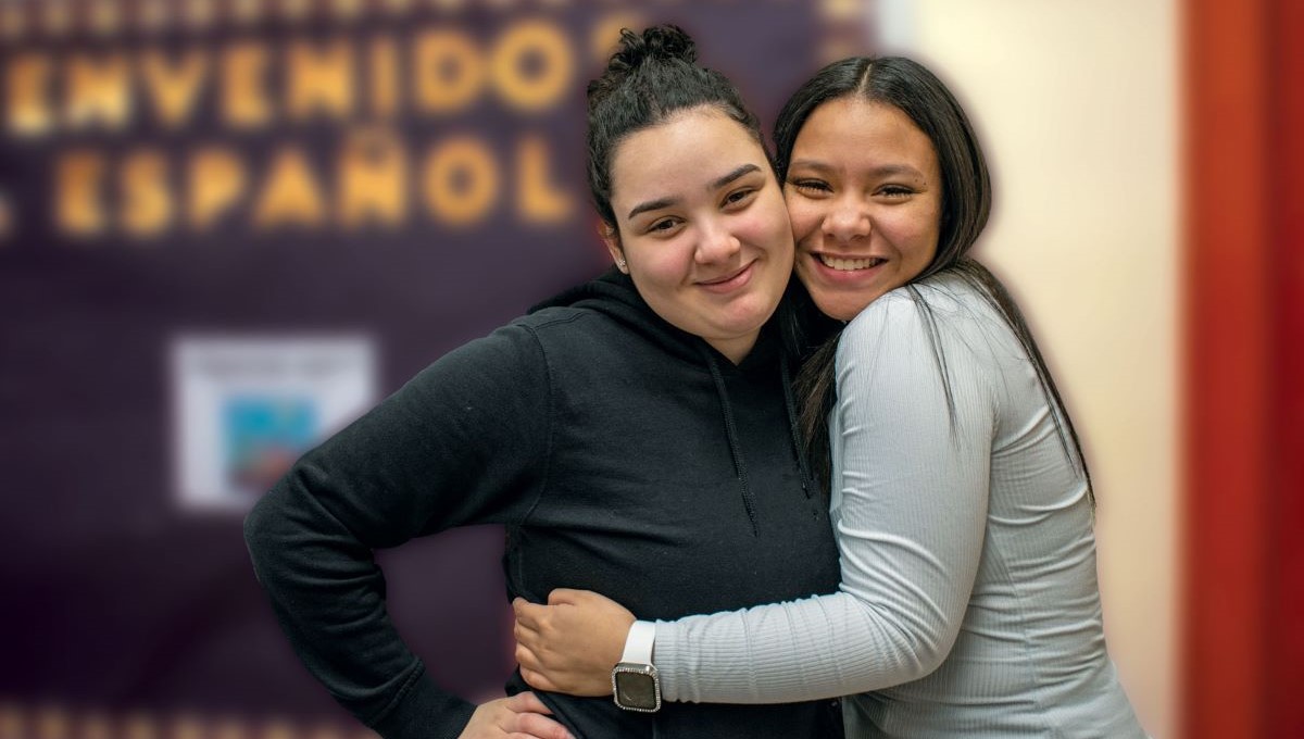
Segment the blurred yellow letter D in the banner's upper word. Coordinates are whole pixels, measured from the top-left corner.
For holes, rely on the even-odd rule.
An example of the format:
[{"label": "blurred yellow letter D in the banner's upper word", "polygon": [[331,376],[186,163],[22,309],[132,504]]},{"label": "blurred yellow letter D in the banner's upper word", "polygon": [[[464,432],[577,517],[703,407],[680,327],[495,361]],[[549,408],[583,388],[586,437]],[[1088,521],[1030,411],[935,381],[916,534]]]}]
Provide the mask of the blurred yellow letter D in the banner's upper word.
[{"label": "blurred yellow letter D in the banner's upper word", "polygon": [[466,107],[484,85],[484,63],[466,34],[426,31],[417,36],[413,50],[416,102],[424,112]]}]

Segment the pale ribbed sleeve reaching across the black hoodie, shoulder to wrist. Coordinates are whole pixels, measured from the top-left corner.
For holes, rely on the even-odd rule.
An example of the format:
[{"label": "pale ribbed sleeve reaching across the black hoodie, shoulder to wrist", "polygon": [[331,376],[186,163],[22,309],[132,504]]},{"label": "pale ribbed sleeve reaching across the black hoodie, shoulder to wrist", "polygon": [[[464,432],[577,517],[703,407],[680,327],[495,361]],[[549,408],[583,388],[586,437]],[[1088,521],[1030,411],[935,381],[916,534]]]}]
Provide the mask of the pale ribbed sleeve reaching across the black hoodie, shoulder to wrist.
[{"label": "pale ribbed sleeve reaching across the black hoodie, shoulder to wrist", "polygon": [[904,293],[846,327],[831,420],[841,592],[660,622],[670,700],[841,696],[922,678],[945,658],[983,545],[994,409],[982,362],[944,323],[935,347],[938,331]]}]

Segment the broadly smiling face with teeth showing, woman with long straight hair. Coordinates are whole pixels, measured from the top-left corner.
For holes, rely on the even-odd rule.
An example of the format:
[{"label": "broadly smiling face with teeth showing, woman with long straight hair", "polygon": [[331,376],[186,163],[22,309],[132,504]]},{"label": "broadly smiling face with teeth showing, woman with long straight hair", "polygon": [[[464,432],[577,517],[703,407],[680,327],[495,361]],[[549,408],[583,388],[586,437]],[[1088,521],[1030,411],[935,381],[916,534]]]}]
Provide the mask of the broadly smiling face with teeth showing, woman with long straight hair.
[{"label": "broadly smiling face with teeth showing, woman with long straight hair", "polygon": [[815,108],[793,143],[784,193],[797,275],[833,318],[850,321],[938,252],[938,156],[893,106],[837,98]]}]

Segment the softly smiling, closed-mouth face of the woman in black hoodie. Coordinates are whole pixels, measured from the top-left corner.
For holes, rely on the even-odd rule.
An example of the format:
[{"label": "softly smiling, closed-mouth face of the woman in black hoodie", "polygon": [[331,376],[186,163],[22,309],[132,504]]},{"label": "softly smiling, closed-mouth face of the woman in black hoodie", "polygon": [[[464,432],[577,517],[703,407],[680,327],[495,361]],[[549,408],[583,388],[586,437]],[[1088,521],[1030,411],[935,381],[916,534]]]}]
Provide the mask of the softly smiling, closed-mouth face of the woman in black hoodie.
[{"label": "softly smiling, closed-mouth face of the woman in black hoodie", "polygon": [[604,235],[661,318],[741,361],[784,295],[793,233],[764,150],[716,108],[625,138]]}]

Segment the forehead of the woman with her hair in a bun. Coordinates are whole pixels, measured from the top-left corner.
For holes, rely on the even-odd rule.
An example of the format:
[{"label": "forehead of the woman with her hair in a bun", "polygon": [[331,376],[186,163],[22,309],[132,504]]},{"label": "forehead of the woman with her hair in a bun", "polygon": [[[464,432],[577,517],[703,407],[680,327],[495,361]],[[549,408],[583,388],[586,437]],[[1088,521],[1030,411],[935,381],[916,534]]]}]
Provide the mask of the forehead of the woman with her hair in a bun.
[{"label": "forehead of the woman with her hair in a bun", "polygon": [[612,199],[695,193],[746,163],[769,171],[764,150],[742,124],[716,108],[694,108],[631,133],[617,145]]}]

